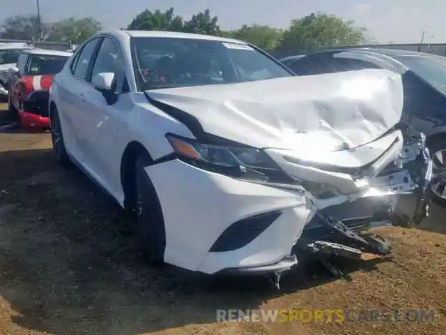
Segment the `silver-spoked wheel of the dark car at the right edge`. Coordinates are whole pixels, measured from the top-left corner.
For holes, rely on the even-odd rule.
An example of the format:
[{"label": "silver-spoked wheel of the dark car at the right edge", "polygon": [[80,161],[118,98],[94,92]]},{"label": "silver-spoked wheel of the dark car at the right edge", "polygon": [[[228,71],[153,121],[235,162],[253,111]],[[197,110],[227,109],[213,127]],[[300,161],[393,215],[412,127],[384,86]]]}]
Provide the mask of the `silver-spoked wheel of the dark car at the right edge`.
[{"label": "silver-spoked wheel of the dark car at the right edge", "polygon": [[433,163],[430,192],[432,200],[446,206],[446,138],[429,145]]}]

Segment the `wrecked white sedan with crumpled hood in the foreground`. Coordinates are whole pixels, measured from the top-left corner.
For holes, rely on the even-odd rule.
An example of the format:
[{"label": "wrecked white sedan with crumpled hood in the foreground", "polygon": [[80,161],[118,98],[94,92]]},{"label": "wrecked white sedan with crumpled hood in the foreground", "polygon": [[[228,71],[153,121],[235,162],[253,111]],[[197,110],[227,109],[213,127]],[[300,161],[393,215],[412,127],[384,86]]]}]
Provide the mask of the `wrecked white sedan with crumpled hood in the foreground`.
[{"label": "wrecked white sedan with crumpled hood in the foreground", "polygon": [[[386,70],[295,77],[243,41],[165,31],[93,36],[49,97],[56,160],[137,213],[149,260],[207,274],[387,253],[326,209],[374,198],[393,214],[416,190],[424,217],[431,161],[402,108]],[[341,238],[309,234],[314,218]]]}]

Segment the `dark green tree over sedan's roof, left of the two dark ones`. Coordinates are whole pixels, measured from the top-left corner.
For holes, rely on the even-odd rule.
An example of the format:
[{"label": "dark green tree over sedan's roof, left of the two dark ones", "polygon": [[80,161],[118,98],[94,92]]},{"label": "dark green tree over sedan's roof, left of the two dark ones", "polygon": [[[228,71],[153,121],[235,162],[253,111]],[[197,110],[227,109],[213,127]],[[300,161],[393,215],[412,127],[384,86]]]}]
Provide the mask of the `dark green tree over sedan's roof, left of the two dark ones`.
[{"label": "dark green tree over sedan's roof, left of the two dark ones", "polygon": [[174,8],[169,8],[164,13],[160,10],[151,12],[146,9],[139,13],[128,25],[129,30],[165,30],[183,31],[183,18],[174,15]]}]

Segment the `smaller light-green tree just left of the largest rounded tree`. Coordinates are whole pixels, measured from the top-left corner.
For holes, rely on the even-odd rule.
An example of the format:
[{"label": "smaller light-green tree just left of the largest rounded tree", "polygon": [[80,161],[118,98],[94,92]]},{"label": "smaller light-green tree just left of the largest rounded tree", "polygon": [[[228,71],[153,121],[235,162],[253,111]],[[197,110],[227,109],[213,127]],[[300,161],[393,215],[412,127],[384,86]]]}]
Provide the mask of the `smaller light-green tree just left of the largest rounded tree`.
[{"label": "smaller light-green tree just left of the largest rounded tree", "polygon": [[279,44],[282,31],[259,24],[253,24],[252,26],[244,24],[240,29],[230,31],[229,37],[245,40],[264,50],[272,50]]}]

